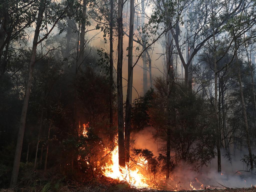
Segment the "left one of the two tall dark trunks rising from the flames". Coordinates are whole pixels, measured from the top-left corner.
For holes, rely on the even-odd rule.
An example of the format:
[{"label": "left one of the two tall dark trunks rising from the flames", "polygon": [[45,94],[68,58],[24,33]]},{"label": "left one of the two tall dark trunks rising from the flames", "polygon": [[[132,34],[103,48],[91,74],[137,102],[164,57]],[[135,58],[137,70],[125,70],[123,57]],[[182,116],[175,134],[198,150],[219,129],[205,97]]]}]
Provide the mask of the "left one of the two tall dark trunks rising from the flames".
[{"label": "left one of the two tall dark trunks rising from the flames", "polygon": [[125,167],[124,116],[123,116],[123,0],[118,0],[118,61],[117,61],[117,104],[118,104],[118,156],[119,165]]}]

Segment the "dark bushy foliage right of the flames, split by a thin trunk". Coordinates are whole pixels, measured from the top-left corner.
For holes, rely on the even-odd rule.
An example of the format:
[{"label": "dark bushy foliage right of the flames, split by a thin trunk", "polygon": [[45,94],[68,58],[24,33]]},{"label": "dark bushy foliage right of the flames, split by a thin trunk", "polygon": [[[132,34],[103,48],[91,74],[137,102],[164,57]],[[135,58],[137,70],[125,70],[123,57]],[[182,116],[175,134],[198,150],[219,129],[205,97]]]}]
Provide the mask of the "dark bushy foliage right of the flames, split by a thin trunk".
[{"label": "dark bushy foliage right of the flames, split by a thin trunk", "polygon": [[[171,158],[175,157],[174,163],[177,164],[182,160],[193,164],[195,168],[207,164],[215,155],[212,108],[193,91],[184,93],[183,86],[179,85],[179,88],[175,89],[174,100],[169,106],[175,123],[168,125],[165,120],[167,104],[162,102],[168,94],[165,91],[165,82],[158,78],[155,81],[155,86],[152,107],[148,110],[151,124],[158,127],[158,131],[154,135],[155,139],[160,138],[166,142],[166,129],[170,126],[170,145],[174,152]],[[163,97],[163,95],[165,96]],[[166,151],[165,147],[162,147],[161,152]],[[162,161],[164,158],[164,155],[161,154],[158,160]]]}]

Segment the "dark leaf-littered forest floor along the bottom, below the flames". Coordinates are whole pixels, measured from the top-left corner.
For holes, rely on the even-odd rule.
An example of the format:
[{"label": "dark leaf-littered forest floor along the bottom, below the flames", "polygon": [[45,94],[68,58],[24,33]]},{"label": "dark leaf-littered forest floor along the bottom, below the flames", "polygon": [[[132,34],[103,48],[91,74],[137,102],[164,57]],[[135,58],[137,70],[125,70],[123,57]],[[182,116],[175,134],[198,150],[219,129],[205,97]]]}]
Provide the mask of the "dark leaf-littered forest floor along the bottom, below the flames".
[{"label": "dark leaf-littered forest floor along the bottom, below the flames", "polygon": [[[175,190],[155,190],[148,188],[134,188],[126,182],[100,176],[98,178],[86,178],[86,175],[79,175],[76,179],[63,177],[63,175],[43,171],[27,172],[23,175],[25,179],[20,180],[14,189],[0,189],[0,192],[170,192]],[[50,175],[51,173],[51,175]],[[48,176],[48,177],[47,177]],[[79,178],[79,179],[78,179]],[[7,186],[7,185],[6,185]],[[46,187],[48,186],[48,187]],[[164,187],[164,186],[163,186]],[[224,186],[223,186],[224,187]],[[202,190],[179,190],[205,191],[205,192],[256,192],[256,187],[251,188],[225,188],[213,189],[205,188]]]}]

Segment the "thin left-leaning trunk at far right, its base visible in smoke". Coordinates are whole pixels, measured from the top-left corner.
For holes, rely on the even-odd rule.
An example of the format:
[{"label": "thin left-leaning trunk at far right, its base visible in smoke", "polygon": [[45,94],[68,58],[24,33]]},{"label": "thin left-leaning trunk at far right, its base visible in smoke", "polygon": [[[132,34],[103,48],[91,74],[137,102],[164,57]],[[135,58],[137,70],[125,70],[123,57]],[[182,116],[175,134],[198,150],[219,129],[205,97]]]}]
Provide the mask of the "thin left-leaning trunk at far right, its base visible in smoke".
[{"label": "thin left-leaning trunk at far right, its base visible in smoke", "polygon": [[244,115],[244,123],[245,123],[245,131],[246,131],[246,140],[247,140],[247,146],[248,146],[248,152],[249,152],[249,158],[250,158],[250,171],[253,172],[253,158],[252,158],[252,151],[251,151],[251,144],[250,144],[250,136],[249,136],[249,127],[248,127],[248,120],[247,120],[247,113],[246,113],[246,107],[244,103],[244,97],[243,97],[243,88],[242,88],[242,80],[241,80],[241,69],[238,61],[237,56],[237,37],[234,35],[234,43],[235,43],[235,54],[236,54],[236,66],[238,68],[238,82],[239,82],[239,89],[240,89],[240,95],[241,95],[241,101],[243,106],[243,115]]}]

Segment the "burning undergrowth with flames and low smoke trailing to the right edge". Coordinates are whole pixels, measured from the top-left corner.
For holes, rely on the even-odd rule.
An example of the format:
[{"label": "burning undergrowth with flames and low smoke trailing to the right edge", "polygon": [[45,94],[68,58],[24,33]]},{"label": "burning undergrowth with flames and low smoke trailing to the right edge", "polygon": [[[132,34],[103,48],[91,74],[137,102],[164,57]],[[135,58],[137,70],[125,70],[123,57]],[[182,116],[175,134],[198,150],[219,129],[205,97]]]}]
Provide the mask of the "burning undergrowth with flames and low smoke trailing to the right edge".
[{"label": "burning undergrowth with flames and low smoke trailing to the right edge", "polygon": [[[88,124],[80,126],[80,137],[83,137],[88,141],[81,145],[79,152],[82,155],[78,155],[78,161],[81,170],[92,173],[93,178],[101,178],[110,183],[120,186],[129,186],[134,188],[147,188],[158,190],[200,190],[206,188],[225,188],[225,187],[251,187],[255,185],[255,179],[252,175],[248,175],[241,172],[234,174],[234,171],[225,171],[219,174],[215,172],[216,168],[213,168],[212,162],[210,166],[203,166],[195,168],[194,165],[185,161],[179,161],[173,164],[170,170],[170,179],[166,181],[165,172],[163,171],[164,164],[159,161],[159,156],[156,149],[148,150],[147,145],[140,143],[136,144],[136,135],[143,135],[145,140],[152,140],[152,132],[149,130],[143,130],[143,133],[133,134],[135,138],[133,142],[133,149],[131,150],[130,162],[126,163],[125,167],[119,165],[118,158],[118,143],[117,137],[114,139],[114,143],[108,146],[102,142],[102,140],[94,141],[94,145],[91,146],[91,150],[88,151],[88,155],[84,155],[84,151],[91,143],[91,132],[93,129]],[[141,141],[141,140],[140,140]],[[145,141],[148,142],[148,141]],[[151,141],[152,142],[152,141]],[[95,151],[97,144],[98,150]],[[138,148],[144,146],[145,148]],[[159,143],[161,146],[161,143]],[[92,153],[91,151],[94,151]],[[157,154],[157,155],[155,155]],[[175,154],[174,154],[175,155]],[[235,165],[235,162],[233,162]],[[225,159],[222,159],[222,164],[225,166]],[[87,168],[84,168],[87,167]],[[227,166],[228,167],[228,166]]]}]

